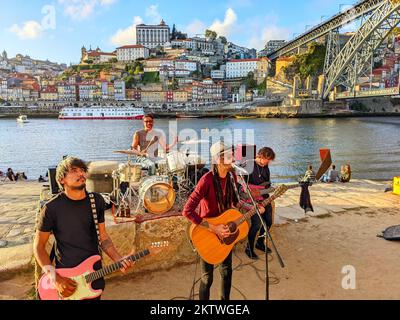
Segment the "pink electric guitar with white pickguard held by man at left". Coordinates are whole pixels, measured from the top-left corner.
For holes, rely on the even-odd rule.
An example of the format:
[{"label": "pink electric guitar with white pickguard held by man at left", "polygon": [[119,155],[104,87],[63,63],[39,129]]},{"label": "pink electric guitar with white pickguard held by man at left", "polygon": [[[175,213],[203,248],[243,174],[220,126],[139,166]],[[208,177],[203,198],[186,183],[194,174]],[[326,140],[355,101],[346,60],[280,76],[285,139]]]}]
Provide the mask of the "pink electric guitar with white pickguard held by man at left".
[{"label": "pink electric guitar with white pickguard held by man at left", "polygon": [[[137,261],[150,254],[156,254],[169,245],[167,241],[153,243],[149,249],[131,255],[126,259],[132,262]],[[94,290],[92,282],[114,273],[122,268],[121,262],[116,262],[100,270],[94,271],[94,264],[101,259],[100,256],[92,256],[82,262],[79,266],[71,269],[56,269],[56,272],[64,277],[70,278],[77,283],[76,291],[68,298],[59,295],[53,282],[48,275],[43,275],[38,284],[38,291],[41,300],[87,300],[99,297],[103,290]]]}]

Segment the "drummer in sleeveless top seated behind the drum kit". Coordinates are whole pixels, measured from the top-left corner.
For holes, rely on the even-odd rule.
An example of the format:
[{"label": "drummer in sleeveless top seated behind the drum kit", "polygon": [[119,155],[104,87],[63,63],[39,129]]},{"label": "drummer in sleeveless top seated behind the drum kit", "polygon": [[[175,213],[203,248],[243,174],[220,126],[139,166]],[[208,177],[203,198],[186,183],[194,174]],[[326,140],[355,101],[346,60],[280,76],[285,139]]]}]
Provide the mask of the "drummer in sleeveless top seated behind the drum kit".
[{"label": "drummer in sleeveless top seated behind the drum kit", "polygon": [[174,139],[171,145],[167,145],[165,135],[161,130],[154,129],[154,117],[150,114],[143,117],[142,130],[136,131],[133,136],[132,150],[140,152],[136,162],[142,165],[142,168],[147,169],[150,176],[156,174],[156,161],[159,158],[159,145],[168,153],[177,143],[178,137]]}]

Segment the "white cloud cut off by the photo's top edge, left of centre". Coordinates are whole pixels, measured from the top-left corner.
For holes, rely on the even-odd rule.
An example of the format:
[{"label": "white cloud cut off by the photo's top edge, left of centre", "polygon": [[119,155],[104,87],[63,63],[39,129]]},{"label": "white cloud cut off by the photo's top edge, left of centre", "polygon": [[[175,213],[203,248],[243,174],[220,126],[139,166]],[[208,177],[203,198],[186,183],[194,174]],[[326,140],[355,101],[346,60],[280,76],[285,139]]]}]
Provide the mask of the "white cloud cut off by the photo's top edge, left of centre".
[{"label": "white cloud cut off by the photo's top edge, left of centre", "polygon": [[64,14],[74,20],[84,20],[90,17],[98,6],[110,6],[117,0],[58,0],[64,6]]}]

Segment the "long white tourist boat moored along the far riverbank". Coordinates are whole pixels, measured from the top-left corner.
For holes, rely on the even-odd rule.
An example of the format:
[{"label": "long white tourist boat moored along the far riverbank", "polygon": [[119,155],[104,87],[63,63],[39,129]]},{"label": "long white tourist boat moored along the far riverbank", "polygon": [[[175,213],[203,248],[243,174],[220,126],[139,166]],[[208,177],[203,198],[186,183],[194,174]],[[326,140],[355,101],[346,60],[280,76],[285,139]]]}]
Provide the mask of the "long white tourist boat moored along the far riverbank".
[{"label": "long white tourist boat moored along the far riverbank", "polygon": [[63,108],[58,118],[60,120],[141,120],[143,116],[142,107],[93,106]]}]

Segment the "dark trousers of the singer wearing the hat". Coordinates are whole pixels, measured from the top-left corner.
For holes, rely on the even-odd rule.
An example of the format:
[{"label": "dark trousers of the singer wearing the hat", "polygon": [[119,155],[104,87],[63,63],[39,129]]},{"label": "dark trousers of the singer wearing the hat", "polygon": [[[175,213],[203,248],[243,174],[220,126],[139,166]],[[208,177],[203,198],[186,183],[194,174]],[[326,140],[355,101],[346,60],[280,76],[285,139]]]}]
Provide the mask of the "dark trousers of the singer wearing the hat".
[{"label": "dark trousers of the singer wearing the hat", "polygon": [[[210,300],[210,288],[214,279],[214,265],[200,258],[201,281],[199,297],[200,300]],[[232,286],[232,251],[222,264],[219,265],[221,274],[221,300],[229,300]]]}]

